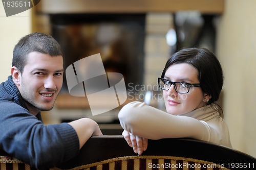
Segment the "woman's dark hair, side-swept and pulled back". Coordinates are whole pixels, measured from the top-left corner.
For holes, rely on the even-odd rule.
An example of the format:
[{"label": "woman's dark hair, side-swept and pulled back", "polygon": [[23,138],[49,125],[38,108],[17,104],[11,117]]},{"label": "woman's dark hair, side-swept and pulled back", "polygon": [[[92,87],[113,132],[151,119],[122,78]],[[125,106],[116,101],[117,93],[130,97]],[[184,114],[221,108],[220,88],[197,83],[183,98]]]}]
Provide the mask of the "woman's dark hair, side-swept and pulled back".
[{"label": "woman's dark hair, side-swept and pulled back", "polygon": [[[164,78],[170,65],[178,63],[190,64],[198,70],[201,89],[210,96],[206,105],[214,104],[219,99],[223,86],[223,72],[217,57],[206,48],[184,48],[168,59],[161,77]],[[221,116],[223,117],[222,111]]]}]

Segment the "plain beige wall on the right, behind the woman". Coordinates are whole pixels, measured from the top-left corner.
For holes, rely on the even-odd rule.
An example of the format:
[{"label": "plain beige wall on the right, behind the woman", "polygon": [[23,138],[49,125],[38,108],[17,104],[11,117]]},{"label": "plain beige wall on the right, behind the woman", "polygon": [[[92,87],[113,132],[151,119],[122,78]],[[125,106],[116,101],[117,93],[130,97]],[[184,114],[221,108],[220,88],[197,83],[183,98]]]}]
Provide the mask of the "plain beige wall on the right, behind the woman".
[{"label": "plain beige wall on the right, behind the woman", "polygon": [[256,157],[256,1],[226,0],[217,27],[224,118],[233,148]]}]

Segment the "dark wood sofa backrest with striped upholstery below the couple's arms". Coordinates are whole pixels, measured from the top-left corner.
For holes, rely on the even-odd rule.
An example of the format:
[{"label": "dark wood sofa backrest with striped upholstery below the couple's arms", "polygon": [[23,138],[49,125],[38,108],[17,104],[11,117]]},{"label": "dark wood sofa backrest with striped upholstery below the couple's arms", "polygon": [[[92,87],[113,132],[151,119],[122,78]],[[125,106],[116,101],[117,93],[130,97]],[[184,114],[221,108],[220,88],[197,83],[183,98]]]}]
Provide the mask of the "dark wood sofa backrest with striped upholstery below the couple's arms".
[{"label": "dark wood sofa backrest with striped upholstery below the couple's arms", "polygon": [[[148,140],[147,150],[137,155],[123,136],[102,135],[91,137],[79,155],[51,170],[254,169],[255,166],[255,158],[210,142],[188,138]],[[0,157],[0,169],[34,168],[3,155]]]}]

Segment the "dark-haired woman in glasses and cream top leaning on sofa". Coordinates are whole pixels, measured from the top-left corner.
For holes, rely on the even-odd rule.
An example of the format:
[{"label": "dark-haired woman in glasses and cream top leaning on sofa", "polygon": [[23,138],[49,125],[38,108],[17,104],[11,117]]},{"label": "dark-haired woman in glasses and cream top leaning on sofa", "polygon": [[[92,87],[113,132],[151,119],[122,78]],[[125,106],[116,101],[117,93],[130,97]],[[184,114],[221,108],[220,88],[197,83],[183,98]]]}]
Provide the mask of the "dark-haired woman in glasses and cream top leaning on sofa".
[{"label": "dark-haired woman in glasses and cream top leaning on sofa", "polygon": [[166,62],[158,85],[166,112],[131,102],[119,112],[130,147],[139,155],[147,139],[195,138],[231,148],[221,108],[215,104],[223,85],[221,65],[205,48],[186,48]]}]

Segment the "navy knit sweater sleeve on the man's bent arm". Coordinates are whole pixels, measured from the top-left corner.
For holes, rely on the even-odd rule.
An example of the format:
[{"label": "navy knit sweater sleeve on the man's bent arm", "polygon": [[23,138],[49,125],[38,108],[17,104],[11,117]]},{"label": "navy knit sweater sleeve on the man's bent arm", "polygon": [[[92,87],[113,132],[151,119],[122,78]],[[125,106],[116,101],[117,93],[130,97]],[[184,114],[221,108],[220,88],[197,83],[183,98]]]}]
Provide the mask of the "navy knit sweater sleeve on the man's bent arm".
[{"label": "navy knit sweater sleeve on the man's bent arm", "polygon": [[78,136],[69,124],[46,126],[13,102],[1,102],[0,107],[0,149],[9,155],[32,167],[49,168],[78,154]]}]

